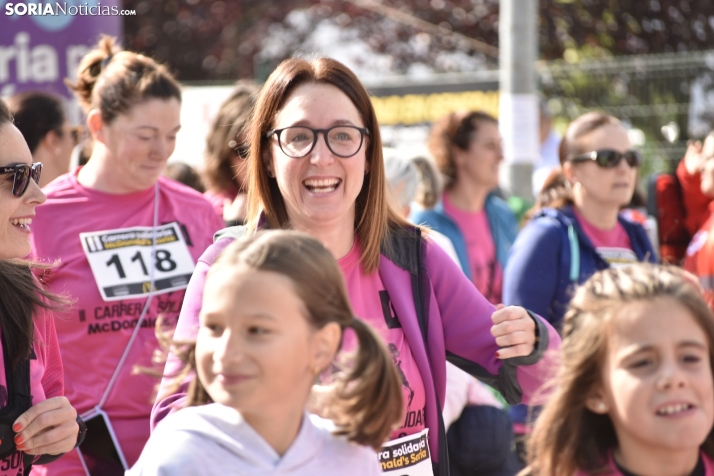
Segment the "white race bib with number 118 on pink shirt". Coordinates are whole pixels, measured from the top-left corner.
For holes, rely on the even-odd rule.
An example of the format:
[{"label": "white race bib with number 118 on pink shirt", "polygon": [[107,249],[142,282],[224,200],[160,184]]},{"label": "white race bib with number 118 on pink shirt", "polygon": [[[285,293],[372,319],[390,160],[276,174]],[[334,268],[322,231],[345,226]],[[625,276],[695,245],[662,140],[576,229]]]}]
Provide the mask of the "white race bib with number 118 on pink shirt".
[{"label": "white race bib with number 118 on pink shirt", "polygon": [[194,269],[193,258],[177,223],[156,227],[156,254],[152,259],[152,230],[136,226],[80,233],[82,248],[105,301],[139,298],[185,289]]}]

